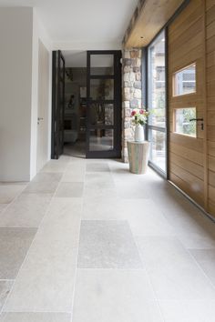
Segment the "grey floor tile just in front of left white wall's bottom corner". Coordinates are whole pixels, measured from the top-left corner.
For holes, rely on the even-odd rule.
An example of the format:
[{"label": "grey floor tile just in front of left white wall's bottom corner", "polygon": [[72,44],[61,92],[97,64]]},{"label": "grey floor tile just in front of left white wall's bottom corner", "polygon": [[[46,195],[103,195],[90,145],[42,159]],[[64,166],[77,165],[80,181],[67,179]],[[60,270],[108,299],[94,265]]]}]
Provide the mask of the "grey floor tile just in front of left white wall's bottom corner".
[{"label": "grey floor tile just in front of left white wall's bottom corner", "polygon": [[26,194],[54,194],[56,187],[58,186],[58,181],[32,181],[24,190],[23,193]]}]

